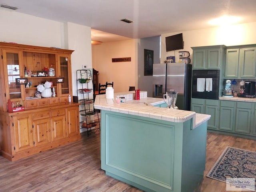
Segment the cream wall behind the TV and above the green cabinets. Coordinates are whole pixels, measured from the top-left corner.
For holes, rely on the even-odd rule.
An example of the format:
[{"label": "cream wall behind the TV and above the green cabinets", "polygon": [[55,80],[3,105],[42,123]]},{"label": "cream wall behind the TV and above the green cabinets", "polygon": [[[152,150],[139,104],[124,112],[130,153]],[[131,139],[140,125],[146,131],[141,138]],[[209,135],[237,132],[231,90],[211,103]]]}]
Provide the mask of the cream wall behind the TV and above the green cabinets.
[{"label": "cream wall behind the TV and above the green cabinets", "polygon": [[[175,56],[175,60],[179,60],[179,51],[166,52],[165,37],[178,33],[183,33],[184,51],[189,51],[192,54],[191,47],[210,46],[210,45],[244,45],[256,44],[256,22],[207,28],[200,30],[190,30],[175,33],[166,33],[161,35],[161,63],[166,60],[166,56]],[[192,56],[191,56],[192,59]]]}]

